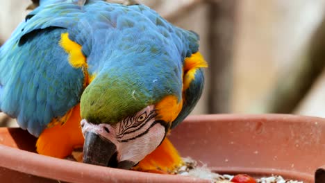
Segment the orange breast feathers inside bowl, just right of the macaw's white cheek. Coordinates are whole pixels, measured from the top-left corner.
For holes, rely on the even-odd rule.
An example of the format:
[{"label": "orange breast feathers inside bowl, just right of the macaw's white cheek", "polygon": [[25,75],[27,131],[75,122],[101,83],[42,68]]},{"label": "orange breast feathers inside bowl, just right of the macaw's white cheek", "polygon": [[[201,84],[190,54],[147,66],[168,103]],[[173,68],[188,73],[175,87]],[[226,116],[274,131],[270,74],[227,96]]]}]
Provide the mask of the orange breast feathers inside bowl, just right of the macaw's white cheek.
[{"label": "orange breast feathers inside bowl, just right of the macaw's white cheek", "polygon": [[[176,168],[183,165],[173,144],[165,138],[164,141],[152,153],[144,157],[133,169],[154,173],[172,173]],[[161,172],[160,172],[161,171]]]}]

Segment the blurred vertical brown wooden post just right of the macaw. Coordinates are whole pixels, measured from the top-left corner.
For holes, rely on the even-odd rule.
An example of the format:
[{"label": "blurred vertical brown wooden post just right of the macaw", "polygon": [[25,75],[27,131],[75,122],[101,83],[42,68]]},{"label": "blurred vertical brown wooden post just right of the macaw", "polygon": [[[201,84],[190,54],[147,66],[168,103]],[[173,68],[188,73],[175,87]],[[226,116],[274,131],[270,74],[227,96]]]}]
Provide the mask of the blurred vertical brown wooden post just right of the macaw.
[{"label": "blurred vertical brown wooden post just right of the macaw", "polygon": [[210,3],[209,113],[230,112],[236,0]]}]

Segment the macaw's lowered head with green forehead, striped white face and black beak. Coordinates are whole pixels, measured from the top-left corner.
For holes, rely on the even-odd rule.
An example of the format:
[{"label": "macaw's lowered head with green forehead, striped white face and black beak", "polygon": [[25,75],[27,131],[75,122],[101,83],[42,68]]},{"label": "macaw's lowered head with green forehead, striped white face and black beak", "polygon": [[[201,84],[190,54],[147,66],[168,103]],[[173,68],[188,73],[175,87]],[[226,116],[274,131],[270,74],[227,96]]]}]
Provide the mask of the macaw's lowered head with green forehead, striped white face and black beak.
[{"label": "macaw's lowered head with green forehead, striped white face and black beak", "polygon": [[182,84],[181,71],[164,64],[121,60],[130,59],[100,71],[81,96],[83,161],[129,169],[165,139],[183,105]]}]

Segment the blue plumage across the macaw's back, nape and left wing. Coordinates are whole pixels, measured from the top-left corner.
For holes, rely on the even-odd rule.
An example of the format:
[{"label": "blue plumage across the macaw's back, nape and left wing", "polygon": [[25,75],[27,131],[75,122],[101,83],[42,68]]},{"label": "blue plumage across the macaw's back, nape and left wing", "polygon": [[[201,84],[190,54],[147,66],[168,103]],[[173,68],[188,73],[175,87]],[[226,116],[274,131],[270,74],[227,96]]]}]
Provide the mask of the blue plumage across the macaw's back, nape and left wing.
[{"label": "blue plumage across the macaw's back, nape and left wing", "polygon": [[150,103],[167,94],[181,99],[183,60],[198,51],[197,34],[142,5],[40,3],[0,49],[0,110],[17,118],[20,127],[38,136],[80,100],[83,72],[69,65],[58,45],[66,32],[83,46],[90,74],[140,83]]}]

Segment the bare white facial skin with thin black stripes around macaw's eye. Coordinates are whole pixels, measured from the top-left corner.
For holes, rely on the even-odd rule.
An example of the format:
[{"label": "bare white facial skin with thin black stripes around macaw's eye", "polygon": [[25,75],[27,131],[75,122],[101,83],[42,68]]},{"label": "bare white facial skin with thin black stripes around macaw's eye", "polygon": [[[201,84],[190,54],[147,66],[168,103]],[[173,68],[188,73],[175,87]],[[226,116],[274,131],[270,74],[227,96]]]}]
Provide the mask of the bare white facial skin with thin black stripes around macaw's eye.
[{"label": "bare white facial skin with thin black stripes around macaw's eye", "polygon": [[165,126],[155,119],[154,105],[149,105],[133,116],[128,116],[115,125],[88,123],[81,121],[85,132],[100,134],[117,147],[117,161],[138,163],[155,150],[165,137]]}]

